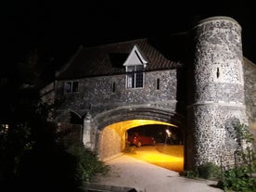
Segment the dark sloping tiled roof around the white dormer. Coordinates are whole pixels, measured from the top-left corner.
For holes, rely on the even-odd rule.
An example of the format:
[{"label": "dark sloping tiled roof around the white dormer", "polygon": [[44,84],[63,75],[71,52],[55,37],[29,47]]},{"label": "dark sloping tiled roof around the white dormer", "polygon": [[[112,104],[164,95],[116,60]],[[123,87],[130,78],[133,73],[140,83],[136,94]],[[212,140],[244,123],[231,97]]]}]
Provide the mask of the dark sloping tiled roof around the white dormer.
[{"label": "dark sloping tiled roof around the white dormer", "polygon": [[58,70],[57,79],[78,79],[102,75],[125,73],[122,66],[134,45],[147,59],[146,70],[167,70],[179,64],[165,58],[149,40],[137,39],[117,44],[82,47],[76,56],[62,69]]}]

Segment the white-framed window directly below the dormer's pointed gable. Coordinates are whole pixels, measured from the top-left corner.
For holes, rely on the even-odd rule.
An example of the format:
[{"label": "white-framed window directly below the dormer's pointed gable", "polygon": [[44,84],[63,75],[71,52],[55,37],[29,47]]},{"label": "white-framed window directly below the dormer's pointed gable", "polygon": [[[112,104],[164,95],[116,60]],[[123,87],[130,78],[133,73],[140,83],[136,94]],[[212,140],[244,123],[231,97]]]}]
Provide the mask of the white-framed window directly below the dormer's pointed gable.
[{"label": "white-framed window directly below the dormer's pointed gable", "polygon": [[126,87],[142,88],[144,84],[144,67],[143,65],[126,67]]}]

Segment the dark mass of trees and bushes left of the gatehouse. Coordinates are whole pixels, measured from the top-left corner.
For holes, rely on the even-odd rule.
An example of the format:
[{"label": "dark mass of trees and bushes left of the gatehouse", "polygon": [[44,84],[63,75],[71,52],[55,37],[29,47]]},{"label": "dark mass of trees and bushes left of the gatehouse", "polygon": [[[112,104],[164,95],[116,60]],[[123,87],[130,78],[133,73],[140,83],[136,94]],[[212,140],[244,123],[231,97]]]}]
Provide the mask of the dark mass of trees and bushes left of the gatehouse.
[{"label": "dark mass of trees and bushes left of the gatehouse", "polygon": [[57,125],[47,122],[53,106],[40,104],[44,80],[37,51],[7,79],[0,83],[0,88],[7,88],[0,99],[1,191],[77,191],[84,180],[104,170],[96,154],[82,144],[58,142],[62,139]]}]

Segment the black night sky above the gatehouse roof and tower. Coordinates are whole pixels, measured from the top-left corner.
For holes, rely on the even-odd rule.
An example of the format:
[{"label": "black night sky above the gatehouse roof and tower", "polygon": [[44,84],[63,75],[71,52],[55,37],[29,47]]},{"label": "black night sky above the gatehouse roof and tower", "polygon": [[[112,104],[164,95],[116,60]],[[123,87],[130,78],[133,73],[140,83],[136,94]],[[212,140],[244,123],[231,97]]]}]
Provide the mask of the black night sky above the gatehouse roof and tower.
[{"label": "black night sky above the gatehouse roof and tower", "polygon": [[[25,2],[25,3],[24,3]],[[256,63],[256,11],[238,5],[172,1],[7,1],[1,3],[4,60],[19,60],[37,48],[69,58],[79,45],[103,45],[136,38],[186,32],[193,20],[229,16],[242,27],[244,56]],[[207,1],[205,1],[207,2]],[[212,4],[214,2],[214,4]]]}]

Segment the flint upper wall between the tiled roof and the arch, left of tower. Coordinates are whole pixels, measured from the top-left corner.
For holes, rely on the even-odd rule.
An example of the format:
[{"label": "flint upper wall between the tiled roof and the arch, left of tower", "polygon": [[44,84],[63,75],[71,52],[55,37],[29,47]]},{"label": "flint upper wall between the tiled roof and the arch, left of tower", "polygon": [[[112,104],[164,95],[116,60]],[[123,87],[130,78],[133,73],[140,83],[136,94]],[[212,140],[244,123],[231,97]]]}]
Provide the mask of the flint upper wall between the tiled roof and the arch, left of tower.
[{"label": "flint upper wall between the tiled roof and the arch, left of tower", "polygon": [[[160,89],[157,89],[160,79]],[[83,116],[88,111],[96,114],[125,106],[150,106],[176,110],[177,77],[176,70],[145,72],[143,88],[127,89],[126,75],[102,76],[73,80],[79,82],[77,93],[64,94],[64,81],[58,83],[58,97],[65,100],[58,109],[59,114],[65,110],[76,111]],[[115,91],[113,91],[115,83]],[[64,117],[65,118],[65,117]]]}]

